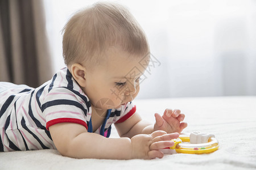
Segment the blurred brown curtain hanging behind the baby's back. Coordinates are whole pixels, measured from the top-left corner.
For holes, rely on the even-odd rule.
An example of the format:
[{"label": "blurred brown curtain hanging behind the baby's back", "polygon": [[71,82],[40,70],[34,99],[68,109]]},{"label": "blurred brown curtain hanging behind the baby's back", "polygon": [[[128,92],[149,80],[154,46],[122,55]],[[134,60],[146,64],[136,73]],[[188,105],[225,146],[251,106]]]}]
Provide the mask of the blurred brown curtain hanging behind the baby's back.
[{"label": "blurred brown curtain hanging behind the baby's back", "polygon": [[43,2],[0,0],[0,81],[38,87],[52,77]]}]

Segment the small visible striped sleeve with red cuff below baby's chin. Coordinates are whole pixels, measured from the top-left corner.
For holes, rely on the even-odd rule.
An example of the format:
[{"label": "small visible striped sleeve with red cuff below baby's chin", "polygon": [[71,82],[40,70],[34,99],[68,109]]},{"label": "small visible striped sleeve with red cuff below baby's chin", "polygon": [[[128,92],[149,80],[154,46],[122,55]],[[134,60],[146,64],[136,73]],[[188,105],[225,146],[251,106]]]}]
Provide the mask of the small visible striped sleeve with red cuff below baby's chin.
[{"label": "small visible striped sleeve with red cuff below baby's chin", "polygon": [[136,105],[133,102],[127,103],[125,106],[121,107],[121,113],[119,119],[115,122],[115,124],[122,123],[129,119],[136,112]]}]

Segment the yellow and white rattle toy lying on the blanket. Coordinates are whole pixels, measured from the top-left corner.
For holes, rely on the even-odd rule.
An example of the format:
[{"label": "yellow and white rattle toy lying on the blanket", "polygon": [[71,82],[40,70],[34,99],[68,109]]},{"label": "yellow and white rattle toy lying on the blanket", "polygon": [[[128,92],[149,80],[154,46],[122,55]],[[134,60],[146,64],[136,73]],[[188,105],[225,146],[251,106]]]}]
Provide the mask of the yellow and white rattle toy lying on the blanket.
[{"label": "yellow and white rattle toy lying on the blanket", "polygon": [[213,134],[194,131],[190,135],[180,134],[177,139],[172,139],[174,146],[164,148],[164,154],[208,154],[218,149],[218,141]]}]

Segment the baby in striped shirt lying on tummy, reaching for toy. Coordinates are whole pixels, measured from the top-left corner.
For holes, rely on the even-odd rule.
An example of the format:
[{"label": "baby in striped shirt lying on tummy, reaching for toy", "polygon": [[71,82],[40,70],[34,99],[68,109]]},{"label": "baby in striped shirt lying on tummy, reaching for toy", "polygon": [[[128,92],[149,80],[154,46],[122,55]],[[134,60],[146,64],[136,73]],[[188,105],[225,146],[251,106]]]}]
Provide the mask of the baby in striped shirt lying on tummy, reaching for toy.
[{"label": "baby in striped shirt lying on tummy, reaching for toy", "polygon": [[[180,110],[143,121],[133,99],[150,61],[127,9],[96,3],[63,29],[67,67],[38,88],[0,83],[0,151],[56,148],[71,158],[154,159],[187,127]],[[145,64],[146,63],[146,67]],[[114,124],[121,138],[108,138]]]}]

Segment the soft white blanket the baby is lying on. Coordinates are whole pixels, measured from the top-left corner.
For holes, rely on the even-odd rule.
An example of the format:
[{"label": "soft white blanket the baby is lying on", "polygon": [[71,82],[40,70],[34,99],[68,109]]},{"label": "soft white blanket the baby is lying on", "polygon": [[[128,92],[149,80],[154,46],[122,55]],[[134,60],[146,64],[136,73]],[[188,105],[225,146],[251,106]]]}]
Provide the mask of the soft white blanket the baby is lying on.
[{"label": "soft white blanket the baby is lying on", "polygon": [[[137,100],[137,111],[154,123],[154,113],[181,109],[185,133],[214,134],[210,154],[174,154],[154,160],[72,159],[56,150],[0,153],[0,169],[256,169],[256,96]],[[118,137],[113,127],[111,137]]]}]

